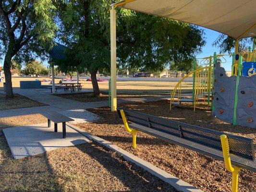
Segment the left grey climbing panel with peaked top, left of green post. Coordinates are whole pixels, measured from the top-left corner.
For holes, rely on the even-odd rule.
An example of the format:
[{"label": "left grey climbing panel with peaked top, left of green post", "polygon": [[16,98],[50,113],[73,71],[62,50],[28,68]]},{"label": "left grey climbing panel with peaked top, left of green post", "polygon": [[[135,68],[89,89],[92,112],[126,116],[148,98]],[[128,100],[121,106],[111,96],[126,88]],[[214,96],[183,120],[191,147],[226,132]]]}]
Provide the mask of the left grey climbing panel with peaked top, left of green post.
[{"label": "left grey climbing panel with peaked top, left of green post", "polygon": [[219,60],[215,62],[212,115],[233,122],[236,77],[228,77]]}]

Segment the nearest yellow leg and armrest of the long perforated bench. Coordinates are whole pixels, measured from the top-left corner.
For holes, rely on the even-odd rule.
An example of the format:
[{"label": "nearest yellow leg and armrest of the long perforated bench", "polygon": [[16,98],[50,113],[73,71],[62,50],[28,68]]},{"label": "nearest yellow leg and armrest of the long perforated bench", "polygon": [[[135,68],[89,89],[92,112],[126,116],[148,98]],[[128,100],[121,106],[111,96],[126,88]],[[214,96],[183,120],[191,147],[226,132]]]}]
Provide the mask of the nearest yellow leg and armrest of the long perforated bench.
[{"label": "nearest yellow leg and armrest of the long perforated bench", "polygon": [[241,168],[232,166],[231,159],[230,159],[230,153],[229,153],[229,141],[227,138],[227,135],[220,135],[220,141],[222,146],[222,152],[224,157],[224,163],[225,167],[228,169],[228,171],[232,172],[232,192],[238,191],[238,175]]}]

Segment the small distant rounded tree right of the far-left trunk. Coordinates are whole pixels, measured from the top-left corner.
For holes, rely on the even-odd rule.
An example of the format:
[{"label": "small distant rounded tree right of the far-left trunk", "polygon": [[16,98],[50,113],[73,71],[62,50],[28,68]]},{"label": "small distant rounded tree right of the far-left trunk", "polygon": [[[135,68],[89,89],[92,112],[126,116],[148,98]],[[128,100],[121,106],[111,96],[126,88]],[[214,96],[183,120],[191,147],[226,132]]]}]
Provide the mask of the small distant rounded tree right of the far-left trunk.
[{"label": "small distant rounded tree right of the far-left trunk", "polygon": [[48,69],[37,60],[26,63],[23,72],[25,75],[48,75]]}]

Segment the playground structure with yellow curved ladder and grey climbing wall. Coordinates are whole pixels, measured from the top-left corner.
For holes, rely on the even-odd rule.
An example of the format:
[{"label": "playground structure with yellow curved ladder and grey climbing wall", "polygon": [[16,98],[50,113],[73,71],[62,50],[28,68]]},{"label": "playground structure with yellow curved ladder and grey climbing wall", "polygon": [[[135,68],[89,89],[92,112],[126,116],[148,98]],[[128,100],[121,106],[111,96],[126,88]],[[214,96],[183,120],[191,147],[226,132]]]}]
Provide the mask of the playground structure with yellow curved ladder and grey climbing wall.
[{"label": "playground structure with yellow curved ladder and grey climbing wall", "polygon": [[[256,42],[253,49],[235,55],[217,55],[194,58],[194,71],[184,76],[171,93],[171,106],[182,102],[191,102],[194,110],[199,99],[212,106],[212,115],[234,125],[256,128]],[[221,64],[226,63],[224,56],[232,56],[232,76],[228,77]],[[238,62],[236,62],[238,61]],[[198,64],[197,64],[198,63]],[[213,64],[214,63],[214,64]],[[196,65],[206,65],[195,69]],[[193,75],[193,93],[191,97],[182,97],[184,80]]]}]

